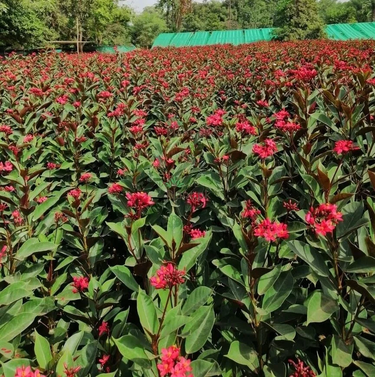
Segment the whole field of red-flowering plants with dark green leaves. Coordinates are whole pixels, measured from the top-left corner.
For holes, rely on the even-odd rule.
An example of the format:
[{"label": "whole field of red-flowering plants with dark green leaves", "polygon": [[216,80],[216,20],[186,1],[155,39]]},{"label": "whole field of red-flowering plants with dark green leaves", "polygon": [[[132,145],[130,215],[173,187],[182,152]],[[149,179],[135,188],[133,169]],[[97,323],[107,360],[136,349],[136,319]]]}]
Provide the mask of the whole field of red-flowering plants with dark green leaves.
[{"label": "whole field of red-flowering plants with dark green leaves", "polygon": [[0,375],[375,376],[375,42],[0,60]]}]

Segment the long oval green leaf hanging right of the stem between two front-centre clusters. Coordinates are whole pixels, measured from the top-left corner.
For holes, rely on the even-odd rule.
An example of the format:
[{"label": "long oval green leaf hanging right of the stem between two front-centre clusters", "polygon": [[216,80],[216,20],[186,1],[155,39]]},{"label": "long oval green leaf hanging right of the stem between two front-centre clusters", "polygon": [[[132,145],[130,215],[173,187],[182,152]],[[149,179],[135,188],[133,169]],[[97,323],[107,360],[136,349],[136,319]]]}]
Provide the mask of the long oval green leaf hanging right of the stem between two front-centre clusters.
[{"label": "long oval green leaf hanging right of the stem between two front-centre clusters", "polygon": [[187,354],[198,352],[207,342],[215,323],[213,307],[207,307],[199,326],[186,337],[185,351]]}]

